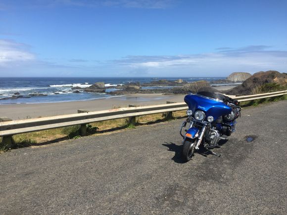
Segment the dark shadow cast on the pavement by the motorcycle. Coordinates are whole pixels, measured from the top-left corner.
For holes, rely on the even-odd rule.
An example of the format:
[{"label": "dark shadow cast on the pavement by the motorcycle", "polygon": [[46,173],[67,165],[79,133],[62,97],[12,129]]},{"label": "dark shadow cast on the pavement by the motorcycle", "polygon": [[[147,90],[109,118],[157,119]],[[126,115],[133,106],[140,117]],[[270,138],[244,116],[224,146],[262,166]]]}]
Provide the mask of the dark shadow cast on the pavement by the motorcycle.
[{"label": "dark shadow cast on the pavement by the motorcycle", "polygon": [[[218,146],[216,146],[215,148],[220,148],[227,141],[228,141],[227,139],[220,140],[218,142]],[[183,150],[183,145],[182,144],[181,145],[177,145],[177,144],[172,143],[172,142],[169,142],[169,143],[168,142],[164,142],[162,145],[165,146],[165,147],[168,147],[168,149],[167,149],[168,151],[175,152],[175,155],[173,156],[173,158],[171,160],[173,160],[175,163],[178,163],[178,164],[186,163],[182,159],[182,150]],[[196,151],[195,153],[199,154],[199,155],[202,155],[204,157],[207,157],[208,155],[212,155],[212,153],[210,151],[206,150],[203,146],[199,147],[199,150]],[[192,160],[192,158],[191,158],[191,160]]]}]

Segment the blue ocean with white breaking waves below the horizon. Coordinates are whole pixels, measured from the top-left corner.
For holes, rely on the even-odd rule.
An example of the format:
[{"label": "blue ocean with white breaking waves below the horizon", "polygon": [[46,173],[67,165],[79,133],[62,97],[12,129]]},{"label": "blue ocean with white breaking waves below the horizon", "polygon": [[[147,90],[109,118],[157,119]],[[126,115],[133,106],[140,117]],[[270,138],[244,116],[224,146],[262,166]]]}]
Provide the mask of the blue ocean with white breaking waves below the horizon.
[{"label": "blue ocean with white breaking waves below the horizon", "polygon": [[[15,103],[51,103],[66,101],[94,100],[114,97],[107,93],[73,93],[72,87],[82,88],[93,85],[96,82],[104,82],[105,86],[117,86],[131,82],[149,83],[154,80],[166,79],[175,81],[183,79],[187,82],[214,81],[225,77],[210,78],[0,78],[0,105]],[[144,88],[157,88],[152,86]],[[167,86],[168,87],[168,86]],[[106,89],[106,92],[117,90]],[[16,93],[16,94],[15,94]],[[13,95],[14,98],[11,98]]]}]

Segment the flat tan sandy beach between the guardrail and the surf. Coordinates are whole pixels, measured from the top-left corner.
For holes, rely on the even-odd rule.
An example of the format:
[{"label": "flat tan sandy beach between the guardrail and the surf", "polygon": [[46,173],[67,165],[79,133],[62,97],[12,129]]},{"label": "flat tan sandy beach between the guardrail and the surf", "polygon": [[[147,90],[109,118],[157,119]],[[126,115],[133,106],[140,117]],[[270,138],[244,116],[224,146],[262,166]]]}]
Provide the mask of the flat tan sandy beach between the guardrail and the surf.
[{"label": "flat tan sandy beach between the guardrail and the surf", "polygon": [[[216,86],[217,90],[226,90],[235,86]],[[121,97],[96,99],[88,101],[71,101],[57,103],[38,104],[2,104],[0,105],[0,117],[8,117],[12,120],[30,119],[38,117],[74,114],[78,110],[100,111],[115,107],[128,107],[129,104],[145,106],[153,104],[165,104],[166,101],[183,102],[183,94],[163,95],[161,93],[138,93]]]}]

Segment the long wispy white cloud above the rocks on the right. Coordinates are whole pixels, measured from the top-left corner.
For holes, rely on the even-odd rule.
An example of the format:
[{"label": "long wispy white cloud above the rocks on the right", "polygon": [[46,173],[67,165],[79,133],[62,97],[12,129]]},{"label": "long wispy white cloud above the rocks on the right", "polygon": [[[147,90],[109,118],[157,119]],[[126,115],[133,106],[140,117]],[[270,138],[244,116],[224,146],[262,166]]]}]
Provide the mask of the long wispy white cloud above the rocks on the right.
[{"label": "long wispy white cloud above the rocks on the right", "polygon": [[[269,50],[270,46],[252,45],[242,48],[224,48],[224,51],[175,56],[127,56],[115,63],[139,71],[176,76],[177,71],[189,75],[224,76],[235,71],[287,71],[287,51]],[[219,48],[218,50],[222,50]]]}]

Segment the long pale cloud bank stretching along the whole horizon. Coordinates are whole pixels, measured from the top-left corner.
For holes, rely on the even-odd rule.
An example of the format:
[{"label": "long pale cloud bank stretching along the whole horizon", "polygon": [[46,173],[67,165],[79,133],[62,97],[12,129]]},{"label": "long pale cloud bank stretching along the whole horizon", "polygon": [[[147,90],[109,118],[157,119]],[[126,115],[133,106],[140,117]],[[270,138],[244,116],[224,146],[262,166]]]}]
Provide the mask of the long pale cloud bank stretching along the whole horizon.
[{"label": "long pale cloud bank stretching along the whole horizon", "polygon": [[187,55],[131,55],[111,61],[42,60],[30,49],[27,44],[0,40],[0,77],[225,77],[232,72],[287,72],[287,51],[265,45],[220,47]]}]

